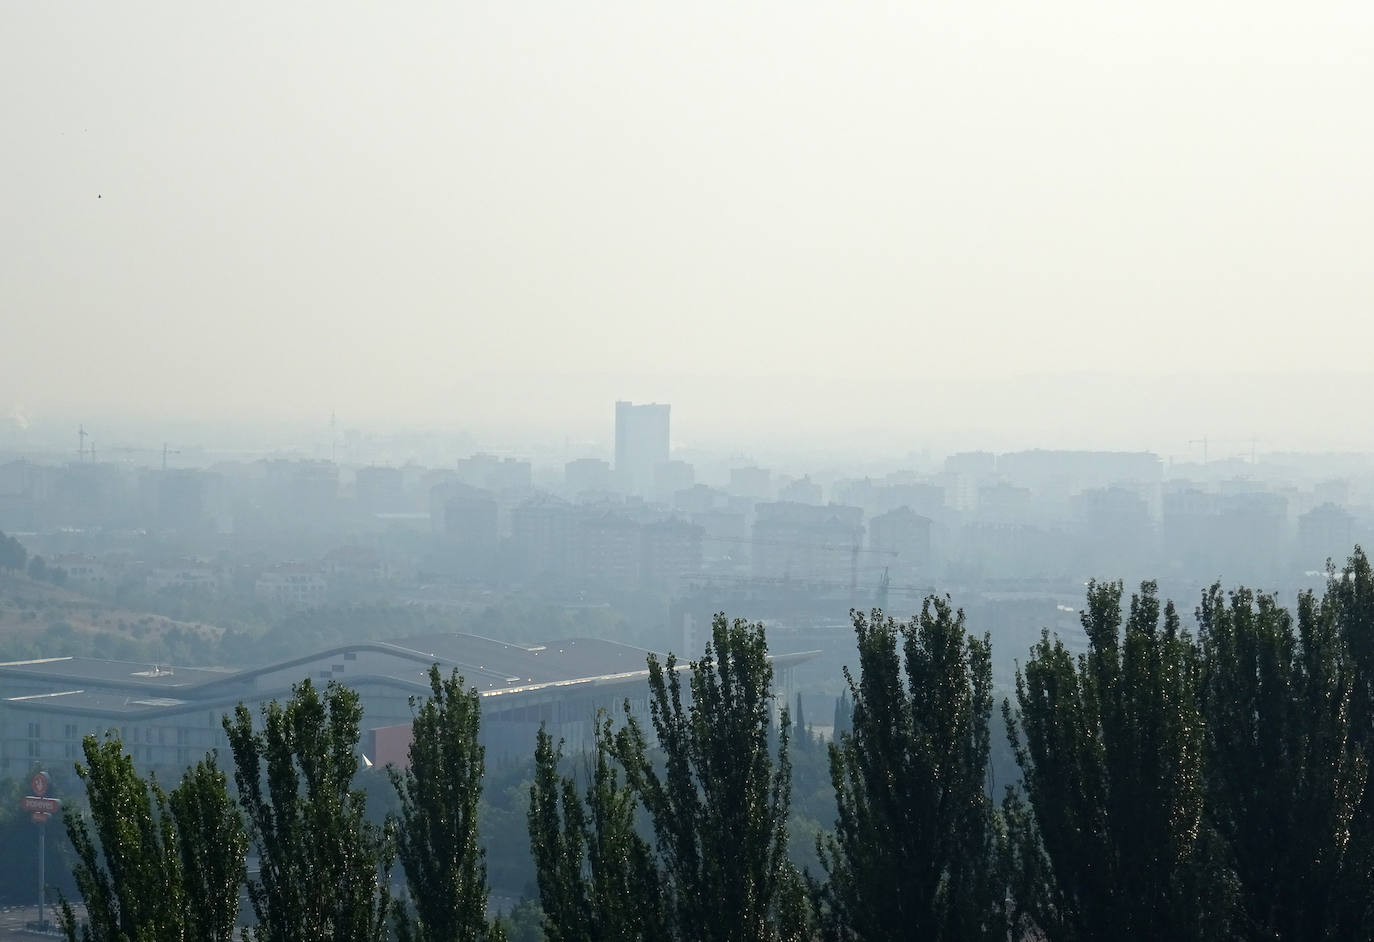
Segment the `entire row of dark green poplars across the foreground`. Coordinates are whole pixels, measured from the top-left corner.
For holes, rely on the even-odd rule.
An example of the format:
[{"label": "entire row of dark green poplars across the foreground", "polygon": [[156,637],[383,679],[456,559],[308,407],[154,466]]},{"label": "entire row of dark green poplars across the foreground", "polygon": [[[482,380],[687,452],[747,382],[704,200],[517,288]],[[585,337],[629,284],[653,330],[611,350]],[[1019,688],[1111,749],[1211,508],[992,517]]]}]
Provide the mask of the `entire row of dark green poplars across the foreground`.
[{"label": "entire row of dark green poplars across the foreground", "polygon": [[[1017,670],[1000,710],[1021,779],[996,795],[988,636],[934,596],[907,621],[853,612],[816,872],[787,855],[793,724],[763,626],[719,615],[701,658],[650,655],[647,724],[602,713],[580,765],[539,733],[545,937],[1374,938],[1364,553],[1292,610],[1213,586],[1189,630],[1154,584],[1094,582],[1081,623]],[[478,842],[480,698],[438,667],[430,688],[381,824],[338,684],[225,717],[232,788],[210,755],[164,792],[88,737],[89,816],[67,816],[87,915],[63,906],[67,938],[229,939],[245,891],[264,942],[504,938]]]}]

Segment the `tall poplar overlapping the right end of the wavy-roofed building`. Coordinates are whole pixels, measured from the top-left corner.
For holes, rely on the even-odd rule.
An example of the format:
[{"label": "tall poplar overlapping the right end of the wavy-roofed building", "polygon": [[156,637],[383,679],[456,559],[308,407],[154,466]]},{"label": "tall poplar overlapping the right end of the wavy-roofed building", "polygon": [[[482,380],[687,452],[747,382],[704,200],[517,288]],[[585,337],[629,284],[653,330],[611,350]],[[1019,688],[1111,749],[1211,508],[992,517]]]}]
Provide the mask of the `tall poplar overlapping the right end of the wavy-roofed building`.
[{"label": "tall poplar overlapping the right end of the wavy-roofed building", "polygon": [[787,861],[791,724],[786,709],[774,722],[763,625],[716,615],[688,674],[690,702],[673,655],[649,656],[662,770],[629,704],[614,743],[653,823],[671,932],[692,942],[804,938],[805,894]]}]

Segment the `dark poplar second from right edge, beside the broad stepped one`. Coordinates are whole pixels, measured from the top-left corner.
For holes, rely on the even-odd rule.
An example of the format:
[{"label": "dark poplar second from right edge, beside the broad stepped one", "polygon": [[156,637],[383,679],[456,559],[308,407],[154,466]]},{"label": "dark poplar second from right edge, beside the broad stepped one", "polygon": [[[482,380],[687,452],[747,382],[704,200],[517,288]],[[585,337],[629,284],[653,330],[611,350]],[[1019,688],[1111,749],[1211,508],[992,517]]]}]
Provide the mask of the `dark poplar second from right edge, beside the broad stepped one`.
[{"label": "dark poplar second from right edge, beside the broad stepped one", "polygon": [[[1250,939],[1340,938],[1333,913],[1367,763],[1351,746],[1352,673],[1337,606],[1213,585],[1198,607],[1208,821]],[[1367,897],[1367,893],[1366,893]]]}]

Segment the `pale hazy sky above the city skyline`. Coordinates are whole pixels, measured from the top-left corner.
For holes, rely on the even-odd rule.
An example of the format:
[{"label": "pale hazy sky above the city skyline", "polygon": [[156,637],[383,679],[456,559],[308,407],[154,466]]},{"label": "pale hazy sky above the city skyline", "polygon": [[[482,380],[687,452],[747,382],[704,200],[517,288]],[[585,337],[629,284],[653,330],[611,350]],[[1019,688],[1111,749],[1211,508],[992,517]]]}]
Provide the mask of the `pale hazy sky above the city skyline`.
[{"label": "pale hazy sky above the city skyline", "polygon": [[12,1],[0,87],[5,412],[1374,446],[1367,0]]}]

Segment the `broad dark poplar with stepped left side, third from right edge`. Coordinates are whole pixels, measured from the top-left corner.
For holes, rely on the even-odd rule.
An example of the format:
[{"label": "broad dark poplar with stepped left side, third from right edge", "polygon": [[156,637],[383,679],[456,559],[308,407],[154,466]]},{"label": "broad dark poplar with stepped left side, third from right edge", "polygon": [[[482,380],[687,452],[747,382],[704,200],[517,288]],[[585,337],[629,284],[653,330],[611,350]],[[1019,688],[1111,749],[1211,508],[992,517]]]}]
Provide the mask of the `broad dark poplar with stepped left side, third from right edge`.
[{"label": "broad dark poplar with stepped left side, third from right edge", "polygon": [[[1044,855],[1021,846],[1021,902],[1063,939],[1212,939],[1230,931],[1231,882],[1205,828],[1198,648],[1156,585],[1088,586],[1088,651],[1048,634],[1017,671],[1007,731]],[[1010,714],[1010,704],[1003,707]],[[1009,801],[1017,832],[1029,816]]]}]

